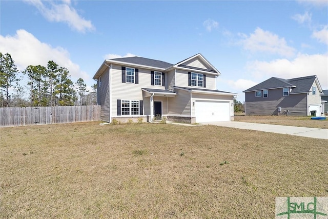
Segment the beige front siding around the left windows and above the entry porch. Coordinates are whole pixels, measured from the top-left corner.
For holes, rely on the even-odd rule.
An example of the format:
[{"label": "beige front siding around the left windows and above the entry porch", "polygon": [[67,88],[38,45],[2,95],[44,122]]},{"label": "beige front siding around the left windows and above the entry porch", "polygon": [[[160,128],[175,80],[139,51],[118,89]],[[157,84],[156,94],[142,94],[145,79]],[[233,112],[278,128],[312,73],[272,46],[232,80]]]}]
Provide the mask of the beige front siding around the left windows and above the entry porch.
[{"label": "beige front siding around the left windows and above the entry porch", "polygon": [[[142,100],[141,88],[152,88],[165,90],[165,86],[151,85],[151,70],[140,69],[139,84],[122,83],[122,70],[119,65],[112,65],[112,116],[117,116],[117,99],[140,101]],[[147,98],[147,97],[146,97]],[[149,98],[149,97],[148,97]],[[147,104],[147,103],[146,103]],[[145,105],[145,103],[144,103]],[[145,107],[144,107],[145,109]]]}]

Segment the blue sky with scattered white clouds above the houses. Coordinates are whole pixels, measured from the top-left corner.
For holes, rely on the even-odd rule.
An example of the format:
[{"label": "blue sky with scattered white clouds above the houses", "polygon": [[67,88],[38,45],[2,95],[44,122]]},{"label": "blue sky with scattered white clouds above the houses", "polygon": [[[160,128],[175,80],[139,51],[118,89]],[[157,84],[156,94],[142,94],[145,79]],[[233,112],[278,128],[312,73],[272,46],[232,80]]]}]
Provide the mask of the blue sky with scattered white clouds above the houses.
[{"label": "blue sky with scattered white clouds above the houses", "polygon": [[328,89],[328,3],[319,1],[0,1],[0,51],[19,70],[49,60],[88,87],[106,58],[176,64],[201,53],[238,93],[272,76],[317,75]]}]

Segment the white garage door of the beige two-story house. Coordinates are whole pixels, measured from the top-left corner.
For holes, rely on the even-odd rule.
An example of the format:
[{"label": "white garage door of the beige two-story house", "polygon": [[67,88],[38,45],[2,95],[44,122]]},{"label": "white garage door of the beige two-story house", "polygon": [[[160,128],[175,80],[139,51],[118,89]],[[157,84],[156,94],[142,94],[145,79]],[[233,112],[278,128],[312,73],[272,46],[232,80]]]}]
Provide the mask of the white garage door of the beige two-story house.
[{"label": "white garage door of the beige two-story house", "polygon": [[230,121],[230,102],[196,101],[196,123]]}]

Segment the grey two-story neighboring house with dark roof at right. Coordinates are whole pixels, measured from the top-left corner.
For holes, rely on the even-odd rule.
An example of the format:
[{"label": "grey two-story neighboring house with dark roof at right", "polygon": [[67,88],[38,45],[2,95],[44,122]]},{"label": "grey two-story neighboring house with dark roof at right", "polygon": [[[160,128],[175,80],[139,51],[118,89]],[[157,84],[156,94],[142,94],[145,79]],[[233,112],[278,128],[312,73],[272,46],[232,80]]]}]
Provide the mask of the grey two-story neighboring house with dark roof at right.
[{"label": "grey two-story neighboring house with dark roof at right", "polygon": [[316,75],[282,79],[271,77],[245,93],[246,115],[321,115],[322,89]]}]

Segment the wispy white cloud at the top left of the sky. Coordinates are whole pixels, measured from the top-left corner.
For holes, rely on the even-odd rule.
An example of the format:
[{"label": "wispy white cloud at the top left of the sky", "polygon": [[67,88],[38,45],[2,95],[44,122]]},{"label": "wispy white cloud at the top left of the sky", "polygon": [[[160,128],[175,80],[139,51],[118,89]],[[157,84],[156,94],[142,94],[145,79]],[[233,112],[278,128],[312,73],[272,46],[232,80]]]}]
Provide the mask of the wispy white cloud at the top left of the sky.
[{"label": "wispy white cloud at the top left of the sky", "polygon": [[63,4],[55,4],[53,1],[43,2],[41,0],[25,0],[25,2],[34,5],[50,22],[67,23],[72,29],[83,33],[95,29],[91,21],[87,21],[76,12],[69,0],[63,0]]}]

